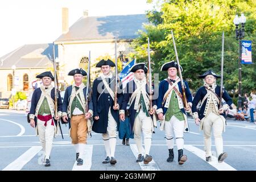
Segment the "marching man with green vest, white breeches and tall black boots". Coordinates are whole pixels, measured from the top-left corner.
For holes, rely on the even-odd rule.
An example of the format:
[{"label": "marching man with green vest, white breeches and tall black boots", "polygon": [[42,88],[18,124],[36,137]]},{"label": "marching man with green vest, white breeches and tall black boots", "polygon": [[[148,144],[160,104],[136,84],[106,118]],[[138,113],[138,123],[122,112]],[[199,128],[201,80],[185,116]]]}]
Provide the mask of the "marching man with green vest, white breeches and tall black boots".
[{"label": "marching man with green vest, white breeches and tall black boots", "polygon": [[[182,68],[180,67],[182,71]],[[183,155],[184,138],[183,133],[188,132],[188,122],[186,111],[191,110],[192,95],[188,83],[184,81],[185,96],[188,100],[188,108],[183,104],[183,90],[181,88],[181,79],[177,76],[178,65],[175,61],[163,64],[161,71],[167,71],[168,77],[160,82],[159,96],[157,100],[158,109],[156,114],[161,121],[160,130],[166,134],[166,143],[169,151],[167,162],[174,160],[174,137],[178,151],[178,162],[184,164],[187,156]]]}]

